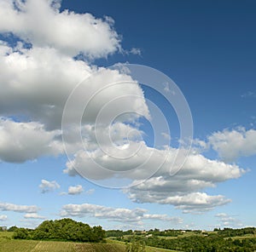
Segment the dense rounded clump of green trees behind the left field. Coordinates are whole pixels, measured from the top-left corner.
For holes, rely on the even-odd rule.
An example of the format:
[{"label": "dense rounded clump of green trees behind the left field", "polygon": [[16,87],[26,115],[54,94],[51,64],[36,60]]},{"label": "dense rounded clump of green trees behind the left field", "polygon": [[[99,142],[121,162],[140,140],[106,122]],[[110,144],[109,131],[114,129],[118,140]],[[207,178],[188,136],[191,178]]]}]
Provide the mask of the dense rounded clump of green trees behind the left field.
[{"label": "dense rounded clump of green trees behind the left field", "polygon": [[33,240],[62,240],[73,242],[100,242],[105,238],[102,226],[90,227],[88,224],[61,219],[44,221],[35,230],[18,228],[15,230],[15,239]]}]

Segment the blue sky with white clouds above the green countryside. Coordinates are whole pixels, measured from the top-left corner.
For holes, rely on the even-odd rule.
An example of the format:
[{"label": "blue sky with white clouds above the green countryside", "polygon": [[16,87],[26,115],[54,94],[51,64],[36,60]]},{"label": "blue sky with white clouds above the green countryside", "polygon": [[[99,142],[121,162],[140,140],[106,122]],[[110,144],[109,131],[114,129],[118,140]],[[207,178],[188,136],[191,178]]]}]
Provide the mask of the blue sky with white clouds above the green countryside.
[{"label": "blue sky with white clouds above the green countryside", "polygon": [[[0,225],[71,217],[106,229],[256,226],[255,8],[0,0]],[[194,143],[181,148],[177,174],[169,171],[182,126],[170,100],[108,69],[117,63],[162,72],[188,102]],[[150,104],[170,130],[167,152],[154,146],[169,139],[154,136],[164,121]],[[113,189],[119,180],[126,187]]]}]

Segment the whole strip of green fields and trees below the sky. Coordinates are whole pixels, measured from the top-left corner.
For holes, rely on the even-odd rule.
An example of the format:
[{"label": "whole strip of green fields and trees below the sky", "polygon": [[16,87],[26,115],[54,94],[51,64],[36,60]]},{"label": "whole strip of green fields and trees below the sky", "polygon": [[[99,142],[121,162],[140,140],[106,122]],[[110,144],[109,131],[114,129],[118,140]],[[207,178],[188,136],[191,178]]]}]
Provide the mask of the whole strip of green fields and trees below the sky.
[{"label": "whole strip of green fields and trees below the sky", "polygon": [[35,229],[2,227],[0,251],[49,252],[253,252],[256,249],[256,228],[215,228],[213,231],[104,231],[102,226],[61,219],[44,221]]}]

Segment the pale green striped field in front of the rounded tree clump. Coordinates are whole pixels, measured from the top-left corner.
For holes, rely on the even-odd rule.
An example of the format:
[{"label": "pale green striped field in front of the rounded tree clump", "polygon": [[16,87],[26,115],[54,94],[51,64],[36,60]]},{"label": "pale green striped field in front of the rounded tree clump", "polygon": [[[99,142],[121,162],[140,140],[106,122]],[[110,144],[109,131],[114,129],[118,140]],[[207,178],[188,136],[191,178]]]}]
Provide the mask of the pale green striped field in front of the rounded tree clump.
[{"label": "pale green striped field in front of the rounded tree clump", "polygon": [[[125,252],[125,243],[69,243],[14,240],[11,232],[0,232],[0,252]],[[147,252],[170,252],[168,249],[147,247]]]}]

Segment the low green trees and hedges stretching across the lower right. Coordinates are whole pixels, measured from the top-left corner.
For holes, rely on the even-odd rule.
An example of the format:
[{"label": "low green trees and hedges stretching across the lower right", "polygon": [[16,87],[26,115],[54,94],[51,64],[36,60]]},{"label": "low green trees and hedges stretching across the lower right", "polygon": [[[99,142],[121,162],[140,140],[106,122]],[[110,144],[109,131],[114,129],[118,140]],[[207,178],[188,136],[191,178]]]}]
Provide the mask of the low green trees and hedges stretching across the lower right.
[{"label": "low green trees and hedges stretching across the lower right", "polygon": [[[165,231],[165,233],[168,231]],[[247,227],[241,229],[216,229],[215,232],[186,231],[184,234],[178,235],[180,231],[172,231],[170,238],[167,238],[158,229],[143,232],[139,236],[126,236],[122,240],[126,243],[132,243],[133,240],[144,242],[151,247],[162,249],[173,249],[185,252],[222,252],[222,251],[256,251],[255,228]],[[175,235],[174,235],[175,234]],[[165,238],[164,238],[165,237]],[[131,246],[130,246],[131,248]],[[130,251],[130,250],[127,250]],[[132,251],[132,250],[131,250]],[[137,250],[135,250],[137,251]]]}]

